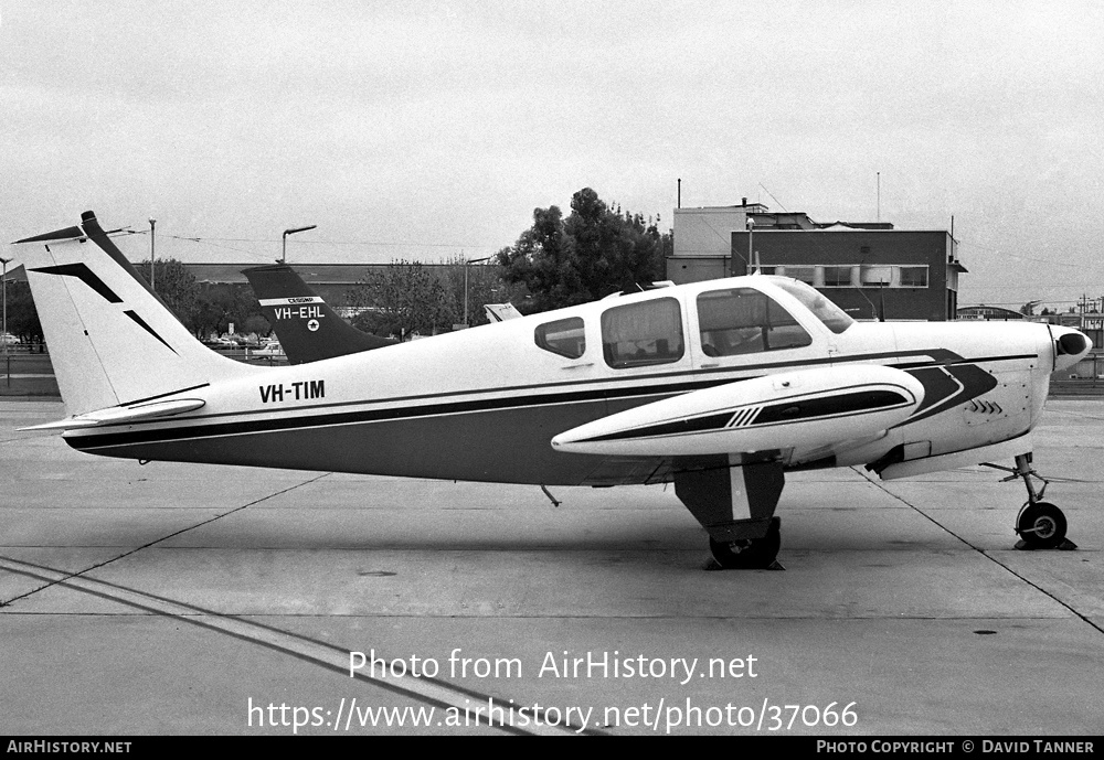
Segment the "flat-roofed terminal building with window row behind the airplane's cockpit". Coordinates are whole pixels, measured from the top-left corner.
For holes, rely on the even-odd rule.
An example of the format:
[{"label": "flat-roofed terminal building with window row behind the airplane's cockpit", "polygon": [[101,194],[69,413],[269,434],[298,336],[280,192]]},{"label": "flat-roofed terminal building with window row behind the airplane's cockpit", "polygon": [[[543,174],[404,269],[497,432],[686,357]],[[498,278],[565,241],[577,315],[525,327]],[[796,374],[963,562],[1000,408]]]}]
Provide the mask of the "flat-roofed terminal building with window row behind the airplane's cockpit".
[{"label": "flat-roofed terminal building with window row behind the airplane's cockpit", "polygon": [[895,229],[888,222],[814,222],[760,203],[675,211],[677,283],[745,275],[794,277],[854,319],[946,321],[958,309],[957,243],[942,229]]}]

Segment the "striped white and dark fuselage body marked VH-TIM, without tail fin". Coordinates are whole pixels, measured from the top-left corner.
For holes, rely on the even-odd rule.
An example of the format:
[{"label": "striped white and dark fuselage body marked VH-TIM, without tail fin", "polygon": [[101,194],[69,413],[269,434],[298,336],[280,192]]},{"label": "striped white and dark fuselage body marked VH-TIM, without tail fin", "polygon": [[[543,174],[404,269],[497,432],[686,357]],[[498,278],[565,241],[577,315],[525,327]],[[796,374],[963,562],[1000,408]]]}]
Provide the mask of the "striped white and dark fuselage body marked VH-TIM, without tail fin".
[{"label": "striped white and dark fuselage body marked VH-TIM, without tail fin", "polygon": [[[807,346],[707,356],[690,321],[698,293],[752,287],[771,278],[702,282],[608,299],[176,394],[201,409],[121,429],[73,430],[65,440],[91,453],[142,460],[221,462],[415,478],[533,484],[656,482],[656,457],[560,452],[556,435],[633,407],[764,375],[827,367],[902,368],[925,384],[926,404],[877,440],[803,447],[795,428],[787,465],[867,464],[896,446],[922,456],[978,448],[1027,433],[1055,368],[1045,324],[856,322],[840,334],[793,303]],[[689,339],[683,356],[615,368],[603,360],[606,309],[677,299]],[[778,296],[778,300],[783,300]],[[533,340],[543,323],[577,317],[586,347],[577,358]],[[937,397],[936,397],[936,394]],[[972,406],[970,400],[985,406]],[[677,451],[677,450],[676,450]],[[814,456],[815,454],[815,456]],[[670,456],[677,456],[672,453]]]}]

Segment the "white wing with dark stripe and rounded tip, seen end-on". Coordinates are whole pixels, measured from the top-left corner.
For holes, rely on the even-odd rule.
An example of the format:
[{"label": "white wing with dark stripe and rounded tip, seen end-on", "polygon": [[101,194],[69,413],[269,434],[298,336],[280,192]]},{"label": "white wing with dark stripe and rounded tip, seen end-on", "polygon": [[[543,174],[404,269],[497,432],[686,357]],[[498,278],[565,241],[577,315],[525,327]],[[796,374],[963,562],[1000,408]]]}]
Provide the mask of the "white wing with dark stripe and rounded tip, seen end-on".
[{"label": "white wing with dark stripe and rounded tip, seen end-on", "polygon": [[691,457],[816,448],[904,421],[924,386],[893,367],[822,367],[767,375],[635,407],[552,439],[560,451]]}]

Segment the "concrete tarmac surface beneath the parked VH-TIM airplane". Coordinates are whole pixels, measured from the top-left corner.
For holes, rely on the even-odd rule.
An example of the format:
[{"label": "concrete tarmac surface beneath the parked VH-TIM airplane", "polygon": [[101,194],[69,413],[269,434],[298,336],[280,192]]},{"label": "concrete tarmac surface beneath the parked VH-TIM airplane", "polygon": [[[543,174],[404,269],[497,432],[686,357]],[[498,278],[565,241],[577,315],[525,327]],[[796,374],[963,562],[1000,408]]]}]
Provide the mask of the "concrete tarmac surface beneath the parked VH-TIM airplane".
[{"label": "concrete tarmac surface beneath the parked VH-TIM airplane", "polygon": [[0,402],[3,734],[1101,729],[1098,399],[1052,399],[1036,430],[1078,550],[1013,548],[1005,473],[842,469],[787,477],[785,571],[704,569],[670,488],[551,489],[556,507],[15,431],[63,416]]}]

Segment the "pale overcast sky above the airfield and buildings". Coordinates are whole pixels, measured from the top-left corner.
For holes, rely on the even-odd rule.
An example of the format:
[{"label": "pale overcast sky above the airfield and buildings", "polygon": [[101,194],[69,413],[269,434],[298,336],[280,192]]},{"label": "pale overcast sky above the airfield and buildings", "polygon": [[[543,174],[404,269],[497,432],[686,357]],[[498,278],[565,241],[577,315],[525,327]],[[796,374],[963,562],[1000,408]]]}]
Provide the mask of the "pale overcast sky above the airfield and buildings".
[{"label": "pale overcast sky above the airfield and buildings", "polygon": [[[1104,295],[1104,3],[0,0],[0,237],[439,260],[594,188],[946,229],[959,302]],[[199,237],[201,242],[179,238]],[[147,235],[123,243],[148,255]]]}]

